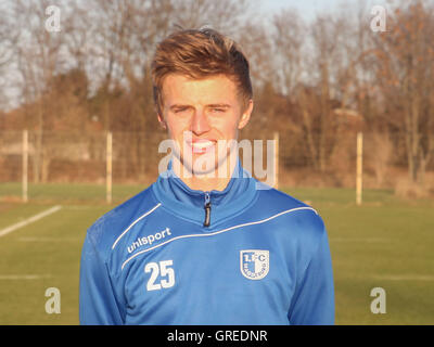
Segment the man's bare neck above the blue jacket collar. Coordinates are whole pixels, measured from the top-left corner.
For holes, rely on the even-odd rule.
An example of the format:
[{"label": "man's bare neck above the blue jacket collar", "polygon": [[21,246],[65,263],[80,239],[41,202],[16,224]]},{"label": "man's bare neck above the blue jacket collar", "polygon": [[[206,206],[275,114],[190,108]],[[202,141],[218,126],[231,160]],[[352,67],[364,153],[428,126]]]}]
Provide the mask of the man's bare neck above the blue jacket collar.
[{"label": "man's bare neck above the blue jacket collar", "polygon": [[[178,158],[173,158],[173,160],[178,160]],[[175,174],[192,190],[200,190],[204,192],[208,192],[212,190],[222,191],[228,185],[232,172],[237,166],[237,157],[231,158],[228,156],[226,163],[222,163],[221,166],[225,168],[224,170],[220,168],[215,168],[213,171],[207,174],[191,174],[183,167],[182,164],[174,163],[173,169]],[[176,165],[178,164],[178,165]],[[225,166],[226,165],[226,166]],[[224,174],[221,174],[221,171]],[[186,175],[189,172],[189,175]]]}]

